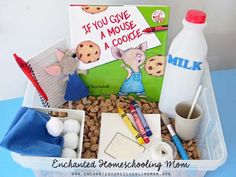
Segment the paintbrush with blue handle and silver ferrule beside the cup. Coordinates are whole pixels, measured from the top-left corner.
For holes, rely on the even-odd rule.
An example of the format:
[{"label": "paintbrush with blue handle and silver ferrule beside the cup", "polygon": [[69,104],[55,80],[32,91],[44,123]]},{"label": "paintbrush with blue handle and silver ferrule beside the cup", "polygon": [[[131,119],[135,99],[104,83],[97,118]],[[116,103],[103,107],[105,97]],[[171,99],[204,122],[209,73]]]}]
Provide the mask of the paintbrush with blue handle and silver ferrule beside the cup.
[{"label": "paintbrush with blue handle and silver ferrule beside the cup", "polygon": [[167,127],[168,131],[170,132],[172,140],[173,140],[173,142],[176,146],[176,149],[178,150],[181,158],[183,160],[189,160],[188,153],[185,151],[184,146],[182,145],[178,135],[176,135],[175,130],[173,129],[169,118],[165,114],[162,114],[161,115],[161,120],[163,121],[163,123]]}]

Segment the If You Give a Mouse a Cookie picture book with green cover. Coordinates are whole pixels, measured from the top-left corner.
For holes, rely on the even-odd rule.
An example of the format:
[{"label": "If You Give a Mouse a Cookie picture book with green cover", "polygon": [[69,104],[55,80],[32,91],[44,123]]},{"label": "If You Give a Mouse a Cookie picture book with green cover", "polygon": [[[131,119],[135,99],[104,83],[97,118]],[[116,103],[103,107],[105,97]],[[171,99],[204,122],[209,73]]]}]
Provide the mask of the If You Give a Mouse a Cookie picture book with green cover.
[{"label": "If You Give a Mouse a Cookie picture book with green cover", "polygon": [[71,5],[69,16],[71,48],[91,95],[159,101],[169,7]]}]

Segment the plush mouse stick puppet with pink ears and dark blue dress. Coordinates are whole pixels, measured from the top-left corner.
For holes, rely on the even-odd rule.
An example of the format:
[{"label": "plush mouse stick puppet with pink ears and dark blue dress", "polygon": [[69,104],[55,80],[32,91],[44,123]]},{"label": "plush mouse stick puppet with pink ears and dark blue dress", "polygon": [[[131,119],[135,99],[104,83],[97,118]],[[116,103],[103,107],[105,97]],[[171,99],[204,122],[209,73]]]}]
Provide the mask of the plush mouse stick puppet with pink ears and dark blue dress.
[{"label": "plush mouse stick puppet with pink ears and dark blue dress", "polygon": [[73,58],[71,51],[63,53],[60,50],[56,50],[56,57],[58,63],[49,66],[45,71],[52,76],[58,76],[61,73],[66,75],[65,79],[61,80],[62,83],[67,82],[64,99],[69,102],[69,108],[72,108],[72,101],[80,99],[86,99],[89,94],[89,90],[81,80],[77,73],[78,59]]}]

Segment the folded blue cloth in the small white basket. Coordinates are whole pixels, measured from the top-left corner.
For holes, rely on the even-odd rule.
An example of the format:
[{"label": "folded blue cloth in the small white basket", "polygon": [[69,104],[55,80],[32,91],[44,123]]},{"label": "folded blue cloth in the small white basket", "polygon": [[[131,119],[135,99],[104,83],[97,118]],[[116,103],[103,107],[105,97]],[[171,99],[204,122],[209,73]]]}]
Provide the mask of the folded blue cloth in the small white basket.
[{"label": "folded blue cloth in the small white basket", "polygon": [[21,107],[0,145],[22,155],[60,157],[63,137],[53,137],[47,132],[49,119],[48,114]]}]

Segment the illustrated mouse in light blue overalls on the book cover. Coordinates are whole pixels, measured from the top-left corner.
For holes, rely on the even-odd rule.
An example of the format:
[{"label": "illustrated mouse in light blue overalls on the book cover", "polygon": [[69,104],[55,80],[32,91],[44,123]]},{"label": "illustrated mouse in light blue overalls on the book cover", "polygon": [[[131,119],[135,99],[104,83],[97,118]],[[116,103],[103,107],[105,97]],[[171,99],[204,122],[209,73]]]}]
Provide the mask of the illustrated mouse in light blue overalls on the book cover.
[{"label": "illustrated mouse in light blue overalls on the book cover", "polygon": [[116,59],[123,60],[121,65],[127,70],[128,75],[120,87],[119,95],[128,95],[135,93],[139,97],[145,97],[145,90],[142,83],[141,69],[146,59],[145,51],[147,50],[147,42],[143,42],[136,48],[129,48],[125,51],[118,47],[112,47],[112,56]]}]

